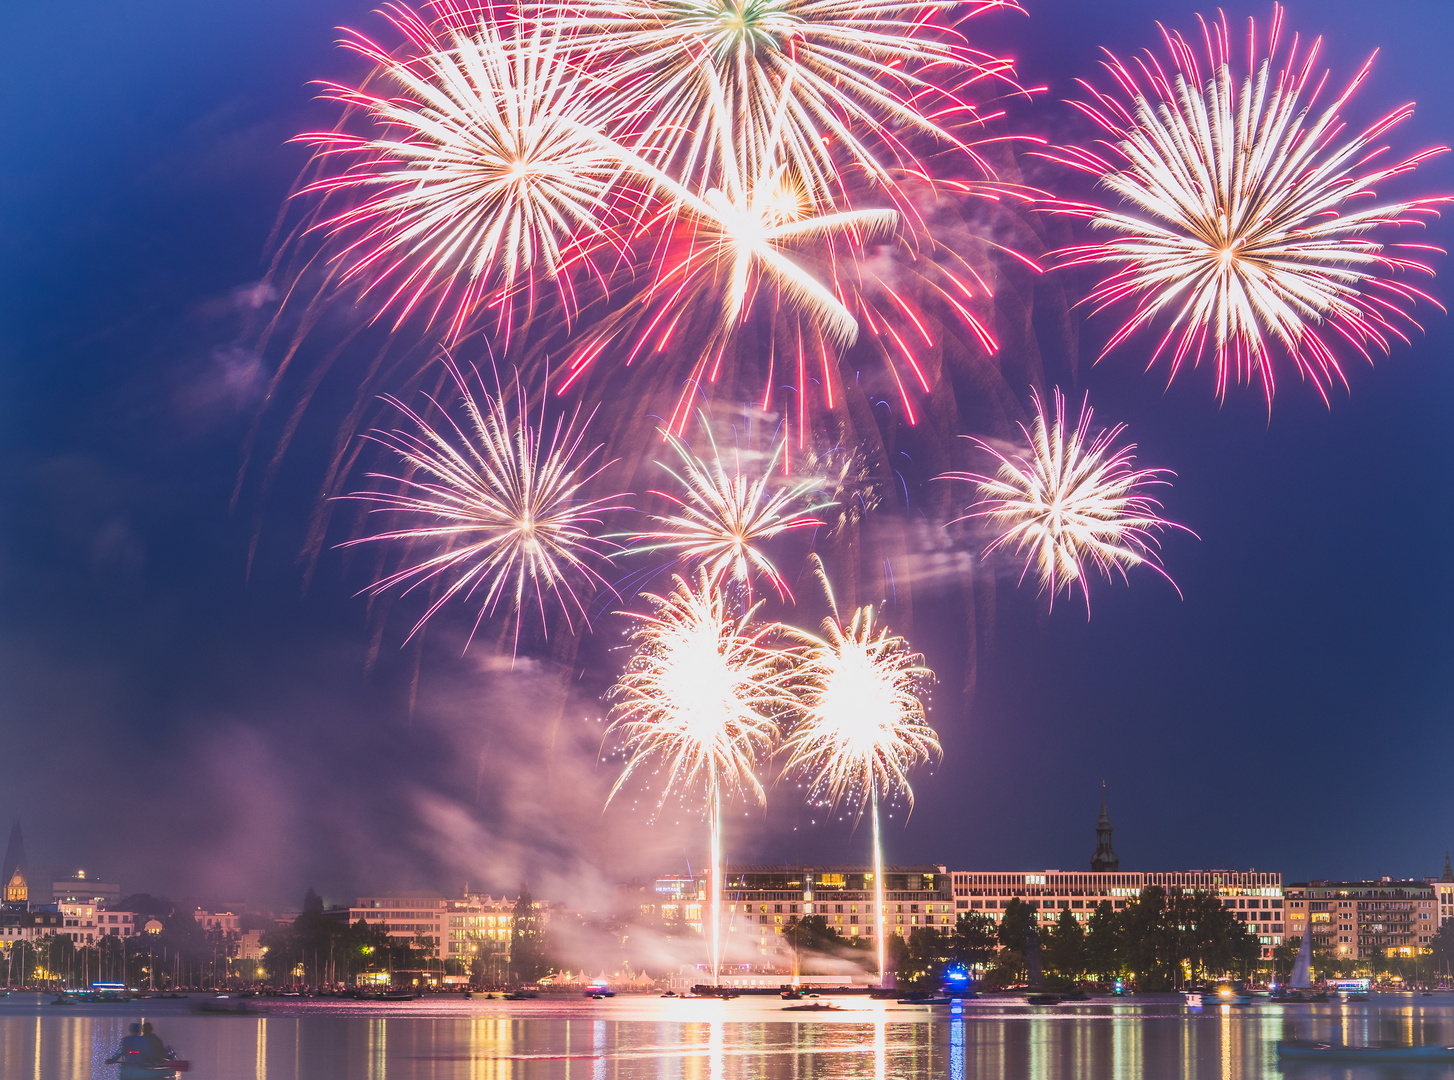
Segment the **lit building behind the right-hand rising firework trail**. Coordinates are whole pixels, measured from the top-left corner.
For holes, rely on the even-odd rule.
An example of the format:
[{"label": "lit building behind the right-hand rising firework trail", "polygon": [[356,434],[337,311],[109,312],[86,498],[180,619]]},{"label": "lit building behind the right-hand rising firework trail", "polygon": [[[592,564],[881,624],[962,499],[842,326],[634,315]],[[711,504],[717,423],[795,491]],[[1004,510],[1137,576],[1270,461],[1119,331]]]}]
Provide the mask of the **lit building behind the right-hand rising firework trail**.
[{"label": "lit building behind the right-hand rising firework trail", "polygon": [[[784,951],[784,929],[823,916],[845,938],[874,936],[872,866],[737,866],[723,878],[728,951],[749,942],[765,956]],[[884,919],[888,933],[954,929],[954,892],[944,866],[885,866]]]}]

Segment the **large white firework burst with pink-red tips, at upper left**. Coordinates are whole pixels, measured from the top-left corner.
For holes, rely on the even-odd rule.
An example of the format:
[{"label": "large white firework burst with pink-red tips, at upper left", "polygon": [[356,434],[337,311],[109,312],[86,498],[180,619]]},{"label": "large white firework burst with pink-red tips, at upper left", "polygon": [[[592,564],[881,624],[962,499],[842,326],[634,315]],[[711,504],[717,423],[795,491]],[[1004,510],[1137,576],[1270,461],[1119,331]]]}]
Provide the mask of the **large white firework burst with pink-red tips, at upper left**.
[{"label": "large white firework burst with pink-red tips, at upper left", "polygon": [[345,45],[378,65],[365,87],[326,84],[324,97],[368,115],[375,132],[298,137],[343,164],[301,195],[365,198],[314,230],[333,237],[345,281],[384,292],[398,321],[432,302],[458,336],[483,307],[502,329],[518,289],[551,281],[569,298],[569,272],[609,241],[602,211],[622,167],[587,132],[602,102],[566,60],[554,28],[502,29],[462,16],[430,26],[400,6],[387,13],[409,48],[395,57],[359,33]]}]

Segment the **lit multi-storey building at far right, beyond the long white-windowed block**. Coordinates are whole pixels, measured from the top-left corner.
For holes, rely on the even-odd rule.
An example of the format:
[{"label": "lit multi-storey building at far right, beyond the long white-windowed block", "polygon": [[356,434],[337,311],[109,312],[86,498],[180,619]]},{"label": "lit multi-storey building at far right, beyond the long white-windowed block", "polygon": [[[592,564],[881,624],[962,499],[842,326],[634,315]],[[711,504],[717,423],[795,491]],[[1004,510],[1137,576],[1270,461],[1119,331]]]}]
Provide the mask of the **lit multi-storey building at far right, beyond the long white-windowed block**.
[{"label": "lit multi-storey building at far right, beyond the long white-windowed block", "polygon": [[1287,887],[1287,939],[1351,959],[1429,952],[1439,923],[1429,881],[1309,881]]}]

